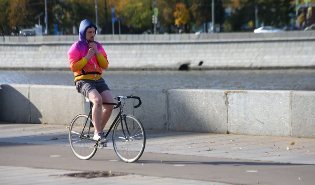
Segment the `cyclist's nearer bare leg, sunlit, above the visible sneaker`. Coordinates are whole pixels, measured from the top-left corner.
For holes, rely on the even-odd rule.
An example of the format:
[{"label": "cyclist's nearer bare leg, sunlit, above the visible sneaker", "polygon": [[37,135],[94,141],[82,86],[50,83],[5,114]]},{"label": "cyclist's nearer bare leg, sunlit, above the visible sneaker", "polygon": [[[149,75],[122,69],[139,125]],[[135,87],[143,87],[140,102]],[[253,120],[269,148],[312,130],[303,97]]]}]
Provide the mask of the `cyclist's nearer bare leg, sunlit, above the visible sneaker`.
[{"label": "cyclist's nearer bare leg, sunlit, above the visible sneaker", "polygon": [[95,128],[95,134],[98,132],[102,132],[102,129],[100,127],[100,120],[102,116],[102,97],[97,92],[96,89],[93,89],[91,92],[89,92],[89,100],[93,103],[92,108],[92,118],[93,118],[93,125]]}]

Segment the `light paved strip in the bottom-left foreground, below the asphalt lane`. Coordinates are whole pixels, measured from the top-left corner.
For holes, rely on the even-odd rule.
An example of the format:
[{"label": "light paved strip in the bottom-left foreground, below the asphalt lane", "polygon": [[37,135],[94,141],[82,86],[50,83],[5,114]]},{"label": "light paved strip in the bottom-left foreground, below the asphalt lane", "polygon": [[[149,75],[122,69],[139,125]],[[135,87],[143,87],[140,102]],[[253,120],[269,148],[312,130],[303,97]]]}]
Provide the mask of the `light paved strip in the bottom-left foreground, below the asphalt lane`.
[{"label": "light paved strip in the bottom-left foreground, below the asphalt lane", "polygon": [[[79,173],[80,171],[70,170],[50,170],[50,169],[38,169],[38,168],[26,168],[26,167],[13,167],[13,166],[0,166],[0,180],[1,184],[10,185],[68,185],[68,184],[197,184],[197,185],[228,185],[226,183],[219,182],[205,182],[187,179],[175,179],[175,178],[162,178],[153,176],[141,176],[141,175],[125,175],[115,177],[97,177],[97,178],[80,178],[80,177],[65,177],[66,174]],[[18,174],[18,175],[17,175]]]}]

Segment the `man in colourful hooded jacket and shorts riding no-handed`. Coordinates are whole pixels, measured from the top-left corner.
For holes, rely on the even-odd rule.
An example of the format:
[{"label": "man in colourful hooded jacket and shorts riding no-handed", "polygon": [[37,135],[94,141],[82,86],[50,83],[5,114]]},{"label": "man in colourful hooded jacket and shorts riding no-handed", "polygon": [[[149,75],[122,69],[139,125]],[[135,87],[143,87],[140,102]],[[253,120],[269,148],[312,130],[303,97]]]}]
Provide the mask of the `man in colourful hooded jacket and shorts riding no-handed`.
[{"label": "man in colourful hooded jacket and shorts riding no-handed", "polygon": [[92,108],[93,125],[95,128],[94,140],[106,143],[104,127],[109,120],[113,105],[103,105],[103,102],[113,103],[105,80],[102,78],[102,69],[107,69],[108,60],[102,45],[94,41],[97,27],[87,19],[81,21],[79,27],[79,40],[68,51],[68,61],[72,72],[77,92],[88,97],[94,104]]}]

